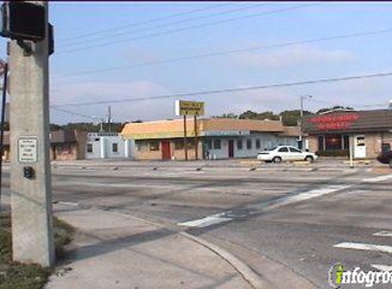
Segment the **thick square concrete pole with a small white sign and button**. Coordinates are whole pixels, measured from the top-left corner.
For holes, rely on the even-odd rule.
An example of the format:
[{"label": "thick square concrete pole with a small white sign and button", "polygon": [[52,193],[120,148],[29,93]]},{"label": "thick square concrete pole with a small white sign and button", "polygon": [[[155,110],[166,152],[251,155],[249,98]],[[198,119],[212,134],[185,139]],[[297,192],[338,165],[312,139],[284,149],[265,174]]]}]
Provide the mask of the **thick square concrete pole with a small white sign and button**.
[{"label": "thick square concrete pole with a small white sign and button", "polygon": [[[47,23],[48,3],[44,5]],[[32,52],[10,42],[12,249],[14,261],[53,266],[55,261],[49,158],[49,44]]]}]

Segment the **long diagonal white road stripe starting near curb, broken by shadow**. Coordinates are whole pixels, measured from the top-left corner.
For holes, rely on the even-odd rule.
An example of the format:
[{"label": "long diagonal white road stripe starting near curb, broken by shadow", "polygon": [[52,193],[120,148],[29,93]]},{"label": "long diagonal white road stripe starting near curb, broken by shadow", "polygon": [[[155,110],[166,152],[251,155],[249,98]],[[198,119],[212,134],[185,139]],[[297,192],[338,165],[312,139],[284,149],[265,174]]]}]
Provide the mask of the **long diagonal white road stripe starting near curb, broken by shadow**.
[{"label": "long diagonal white road stripe starting near curb, broken by shadow", "polygon": [[[314,190],[309,190],[306,192],[301,192],[299,194],[294,194],[292,196],[283,197],[278,199],[277,201],[270,201],[267,203],[259,203],[257,205],[249,205],[247,209],[252,212],[252,214],[257,214],[259,212],[265,212],[267,210],[272,210],[279,208],[283,205],[289,205],[292,203],[298,203],[300,201],[305,201],[309,199],[313,199],[315,197],[322,196],[324,194],[330,194],[331,192],[337,192],[338,190],[344,190],[352,187],[351,185],[332,185],[326,188],[318,188]],[[193,221],[187,221],[184,223],[177,223],[179,226],[187,226],[187,227],[208,227],[210,225],[216,225],[219,223],[224,223],[227,221],[233,220],[236,216],[231,214],[231,211],[221,212],[218,214],[213,214],[211,216],[206,216],[204,218],[200,218]],[[228,217],[230,216],[230,217]]]}]

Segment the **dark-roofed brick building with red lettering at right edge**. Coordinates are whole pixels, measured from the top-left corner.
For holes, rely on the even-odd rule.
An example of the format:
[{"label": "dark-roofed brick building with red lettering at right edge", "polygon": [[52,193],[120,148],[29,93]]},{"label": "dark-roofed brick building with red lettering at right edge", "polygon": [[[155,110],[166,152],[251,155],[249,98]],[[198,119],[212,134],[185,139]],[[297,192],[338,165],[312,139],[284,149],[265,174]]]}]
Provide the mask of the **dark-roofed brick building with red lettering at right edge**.
[{"label": "dark-roofed brick building with red lettering at right edge", "polygon": [[392,110],[330,112],[304,119],[313,152],[348,154],[350,138],[354,158],[376,158],[392,145]]}]

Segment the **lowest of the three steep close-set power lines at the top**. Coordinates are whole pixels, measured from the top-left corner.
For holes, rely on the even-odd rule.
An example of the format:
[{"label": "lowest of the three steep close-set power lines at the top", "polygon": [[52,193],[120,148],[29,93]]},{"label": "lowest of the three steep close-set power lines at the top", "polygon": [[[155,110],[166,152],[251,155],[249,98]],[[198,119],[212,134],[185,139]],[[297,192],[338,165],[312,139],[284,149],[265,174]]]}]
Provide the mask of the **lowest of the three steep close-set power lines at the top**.
[{"label": "lowest of the three steep close-set power lines at the top", "polygon": [[307,7],[310,7],[310,6],[313,6],[313,5],[319,5],[319,4],[298,5],[298,6],[294,6],[294,7],[290,7],[290,8],[282,8],[282,9],[278,9],[278,10],[261,12],[261,13],[257,13],[257,14],[250,14],[250,15],[239,16],[239,17],[235,17],[235,18],[228,18],[228,19],[215,21],[215,22],[210,22],[210,23],[203,23],[203,24],[200,24],[200,25],[193,25],[193,26],[188,26],[188,27],[183,27],[183,28],[178,28],[178,29],[171,29],[171,30],[167,30],[167,31],[164,31],[164,32],[155,32],[153,34],[147,34],[147,35],[144,35],[144,36],[138,36],[138,37],[134,37],[134,38],[125,38],[125,39],[117,40],[117,41],[103,42],[100,45],[90,45],[90,46],[81,47],[81,48],[78,48],[78,49],[70,49],[70,50],[66,50],[66,51],[60,51],[60,52],[57,53],[57,55],[64,54],[64,53],[73,53],[73,52],[77,52],[77,51],[83,51],[83,50],[86,50],[86,49],[107,47],[107,46],[117,45],[117,44],[122,43],[122,42],[129,42],[129,41],[132,41],[132,40],[141,40],[141,39],[151,38],[151,37],[155,37],[155,36],[162,36],[162,35],[166,35],[166,34],[172,34],[172,33],[175,33],[175,32],[186,31],[186,30],[189,30],[189,29],[200,28],[200,27],[207,27],[207,26],[211,26],[211,25],[217,25],[217,24],[220,24],[220,23],[227,23],[227,22],[231,22],[231,21],[237,21],[237,20],[241,20],[241,19],[244,19],[244,18],[255,18],[255,17],[265,16],[265,15],[270,15],[270,14],[278,14],[280,12],[287,12],[287,11],[290,11],[290,10],[299,10],[299,9],[307,8]]}]

